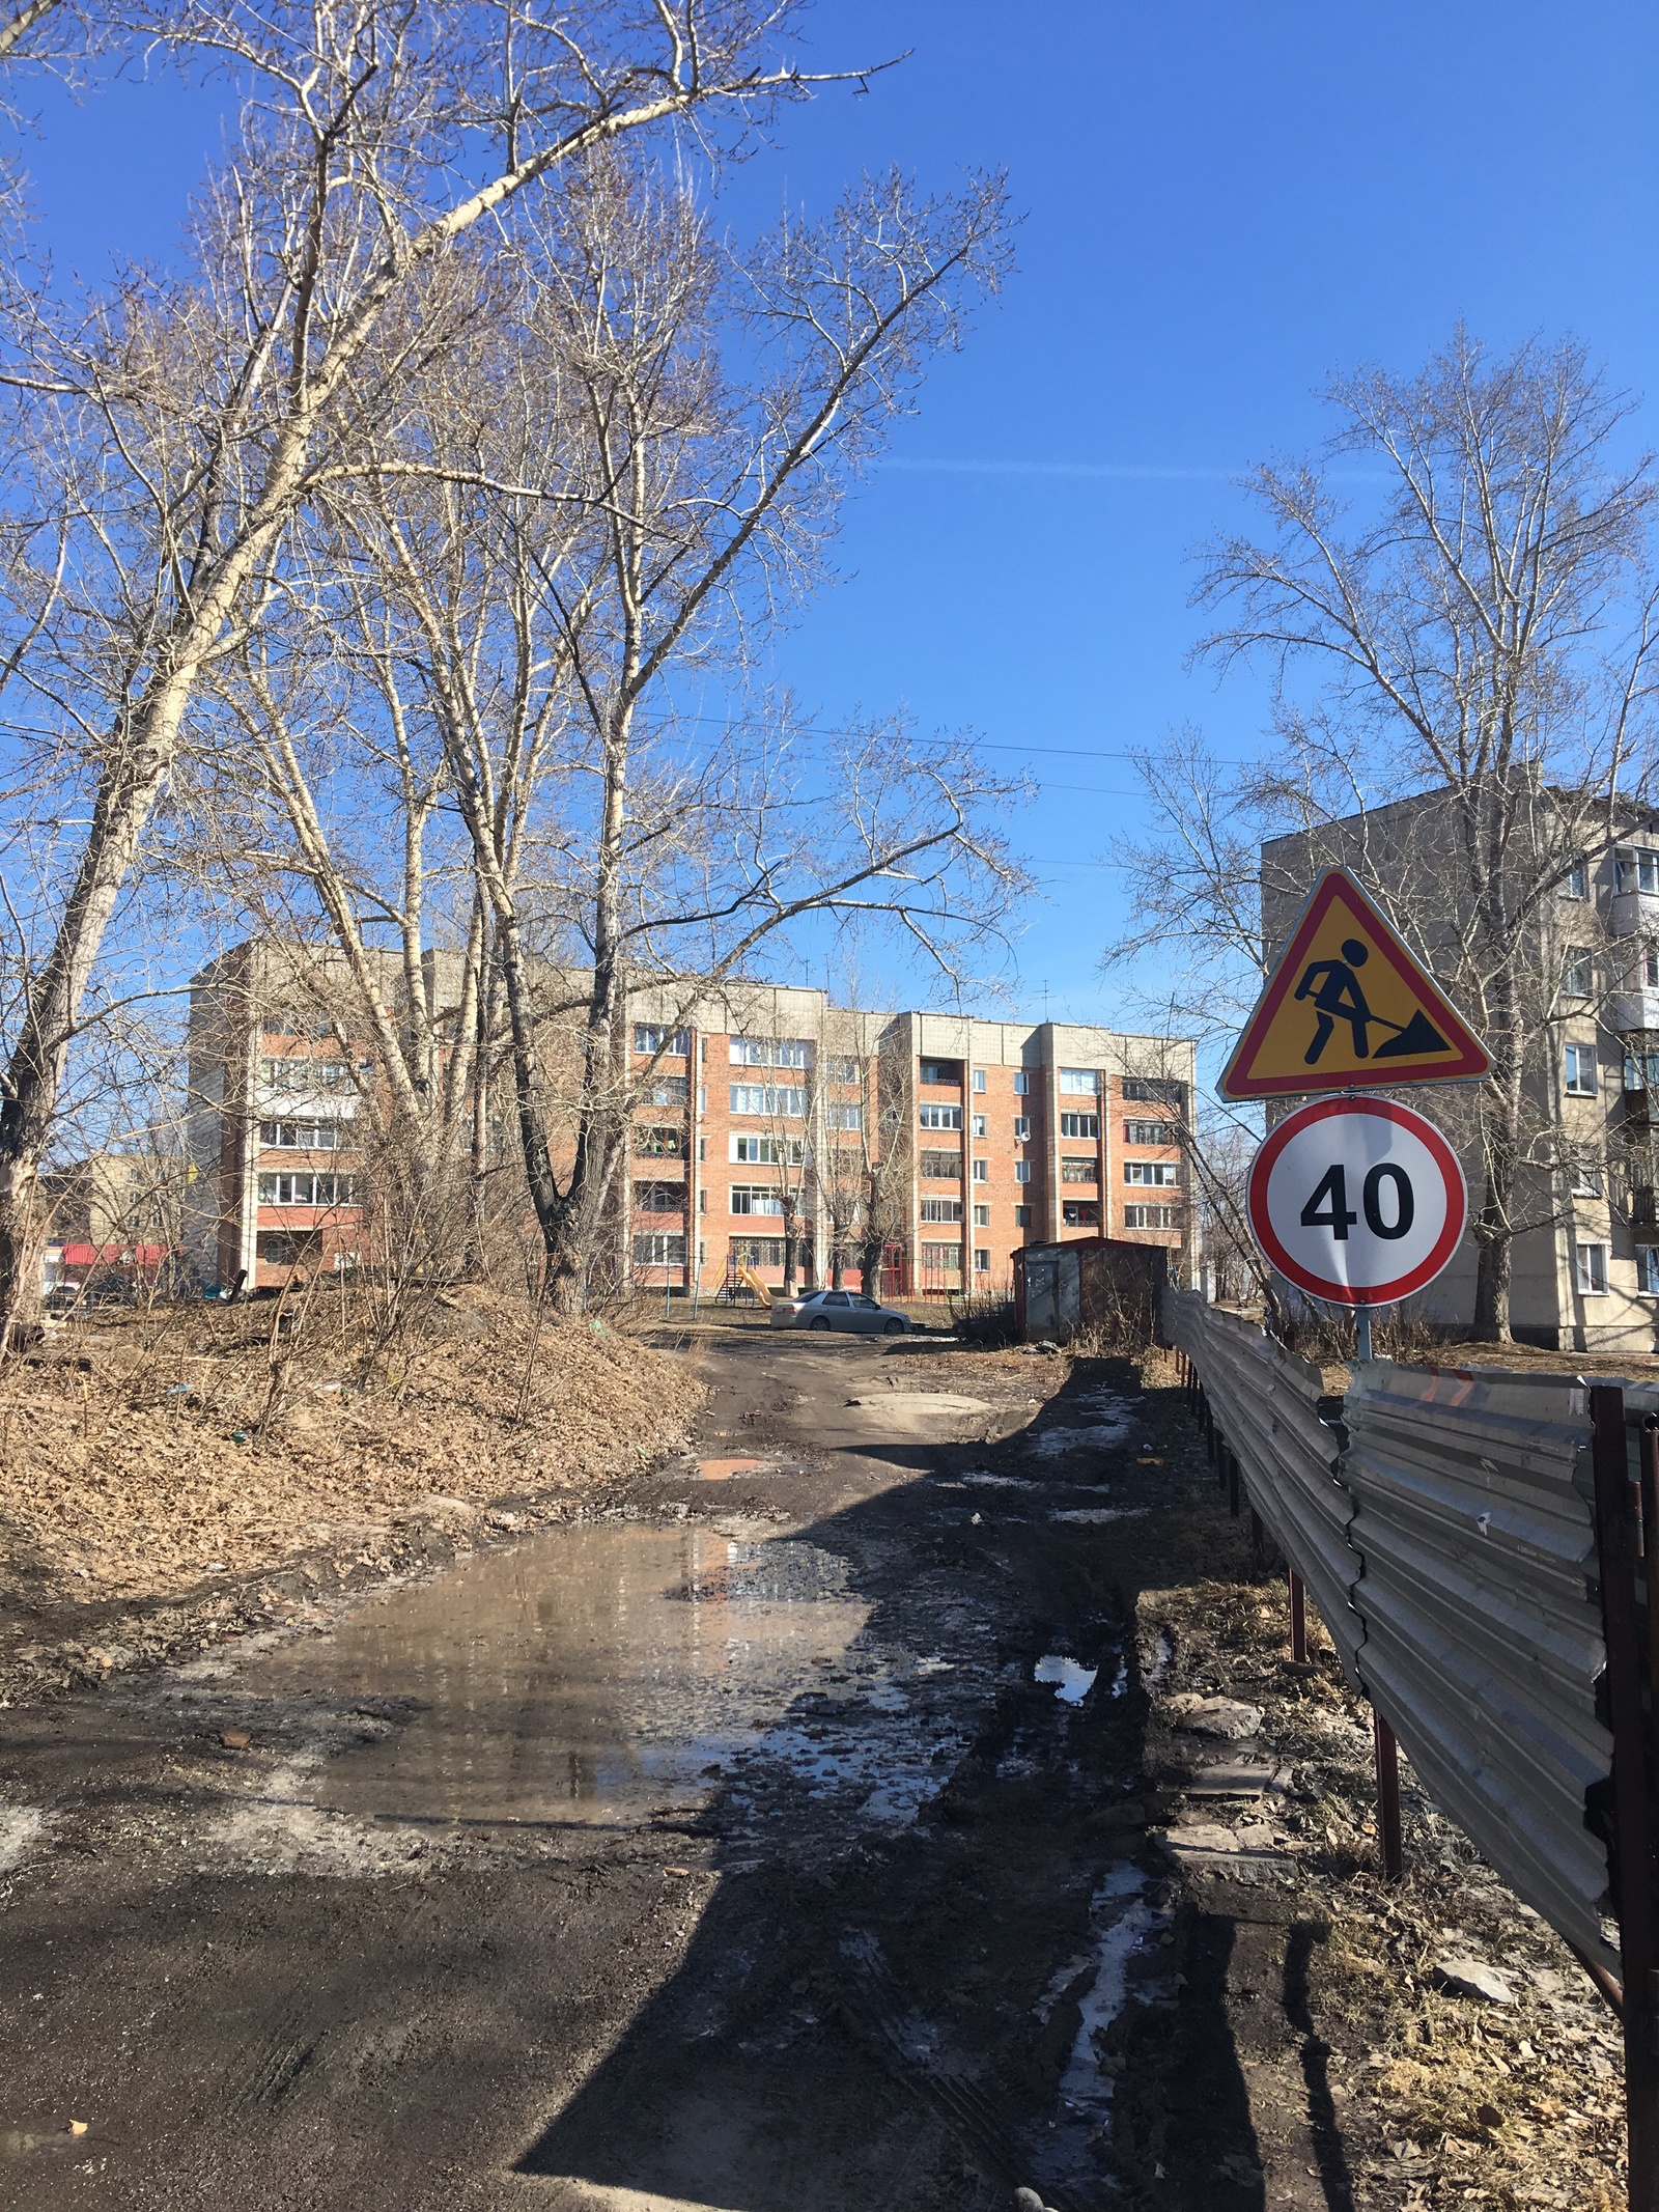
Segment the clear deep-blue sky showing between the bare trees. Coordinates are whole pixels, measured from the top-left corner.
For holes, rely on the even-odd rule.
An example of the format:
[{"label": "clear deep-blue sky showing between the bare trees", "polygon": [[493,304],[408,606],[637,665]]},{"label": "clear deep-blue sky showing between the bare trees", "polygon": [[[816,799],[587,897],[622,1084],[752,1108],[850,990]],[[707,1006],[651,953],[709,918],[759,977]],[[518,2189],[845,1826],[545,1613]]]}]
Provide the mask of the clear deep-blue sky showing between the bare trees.
[{"label": "clear deep-blue sky showing between the bare trees", "polygon": [[[1115,754],[1186,719],[1243,752],[1263,721],[1248,679],[1183,666],[1188,555],[1239,518],[1230,478],[1323,436],[1332,369],[1411,369],[1460,316],[1493,345],[1571,330],[1655,385],[1659,15],[836,0],[810,31],[812,66],[911,58],[787,113],[734,221],[823,210],[898,161],[938,188],[1006,166],[1024,223],[1002,303],[854,498],[843,582],[774,677],[825,721],[905,703],[1024,759],[1042,796],[1015,841],[1042,898],[1020,1004],[1115,1020],[1102,856],[1137,805]],[[170,82],[51,100],[24,148],[44,239],[84,274],[111,248],[164,257],[215,144],[217,102]]]}]

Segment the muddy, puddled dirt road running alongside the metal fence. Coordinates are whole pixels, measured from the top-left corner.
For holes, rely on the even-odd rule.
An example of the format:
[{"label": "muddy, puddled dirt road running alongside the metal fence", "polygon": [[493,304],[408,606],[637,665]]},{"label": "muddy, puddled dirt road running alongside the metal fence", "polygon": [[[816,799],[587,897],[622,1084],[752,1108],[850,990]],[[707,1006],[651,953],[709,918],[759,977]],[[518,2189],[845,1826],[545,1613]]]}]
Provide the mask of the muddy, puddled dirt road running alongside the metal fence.
[{"label": "muddy, puddled dirt road running alongside the metal fence", "polygon": [[1613,2024],[1411,1790],[1376,1880],[1159,1371],[668,1343],[695,1455],[0,1712],[0,2205],[1613,2203]]}]

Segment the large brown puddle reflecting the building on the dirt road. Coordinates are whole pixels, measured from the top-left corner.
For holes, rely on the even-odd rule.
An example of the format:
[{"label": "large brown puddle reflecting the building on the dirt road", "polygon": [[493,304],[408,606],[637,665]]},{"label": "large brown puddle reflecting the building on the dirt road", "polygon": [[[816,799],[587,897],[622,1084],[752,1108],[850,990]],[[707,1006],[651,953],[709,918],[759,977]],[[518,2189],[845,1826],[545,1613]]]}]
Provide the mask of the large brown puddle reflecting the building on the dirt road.
[{"label": "large brown puddle reflecting the building on the dirt road", "polygon": [[[841,1559],[814,1544],[553,1528],[268,1652],[241,1688],[314,1699],[332,1717],[367,1703],[361,1741],[292,1770],[310,1805],[626,1825],[701,1801],[708,1770],[763,1739],[803,1690],[849,1683],[843,1661],[867,1613]],[[380,1699],[398,1725],[376,1721]]]}]

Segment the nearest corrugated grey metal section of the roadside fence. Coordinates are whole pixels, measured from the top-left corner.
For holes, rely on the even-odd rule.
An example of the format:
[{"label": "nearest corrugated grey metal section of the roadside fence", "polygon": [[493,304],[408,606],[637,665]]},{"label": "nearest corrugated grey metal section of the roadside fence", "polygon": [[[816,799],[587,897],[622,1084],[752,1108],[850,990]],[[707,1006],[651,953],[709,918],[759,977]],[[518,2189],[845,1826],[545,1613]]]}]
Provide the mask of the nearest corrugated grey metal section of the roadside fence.
[{"label": "nearest corrugated grey metal section of the roadside fence", "polygon": [[1584,1825],[1613,1767],[1595,1701],[1588,1391],[1573,1376],[1376,1360],[1343,1420],[1358,1679],[1515,1896],[1617,1973],[1608,1856]]}]

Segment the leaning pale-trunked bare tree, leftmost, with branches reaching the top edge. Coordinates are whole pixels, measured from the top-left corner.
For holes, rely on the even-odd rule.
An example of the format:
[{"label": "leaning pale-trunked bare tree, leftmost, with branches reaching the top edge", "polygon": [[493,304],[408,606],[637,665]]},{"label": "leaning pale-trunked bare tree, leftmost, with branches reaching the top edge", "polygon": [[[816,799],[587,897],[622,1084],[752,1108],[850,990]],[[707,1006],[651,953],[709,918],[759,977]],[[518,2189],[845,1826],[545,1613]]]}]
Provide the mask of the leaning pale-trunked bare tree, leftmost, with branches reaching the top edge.
[{"label": "leaning pale-trunked bare tree, leftmost, with branches reaching the top edge", "polygon": [[580,24],[378,0],[128,18],[230,69],[248,104],[192,274],[131,270],[58,307],[20,272],[4,301],[38,500],[9,546],[2,666],[40,714],[33,790],[55,761],[86,827],[60,832],[38,885],[0,1077],[0,1347],[64,1062],[204,670],[268,613],[294,518],[374,456],[409,374],[453,343],[465,248],[504,239],[595,148],[695,115],[741,128],[805,93],[768,60],[783,22],[765,0],[611,0]]}]

